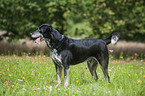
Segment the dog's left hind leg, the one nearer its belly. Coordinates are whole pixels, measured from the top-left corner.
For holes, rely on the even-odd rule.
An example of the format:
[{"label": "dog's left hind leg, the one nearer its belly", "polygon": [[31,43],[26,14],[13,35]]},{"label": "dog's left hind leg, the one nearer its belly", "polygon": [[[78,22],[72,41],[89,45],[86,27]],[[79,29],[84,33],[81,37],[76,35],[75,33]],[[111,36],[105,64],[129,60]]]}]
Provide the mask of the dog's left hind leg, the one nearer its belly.
[{"label": "dog's left hind leg, the one nearer its belly", "polygon": [[87,65],[88,65],[88,68],[90,70],[91,75],[94,77],[95,81],[97,81],[98,76],[97,76],[96,69],[97,69],[97,66],[98,66],[98,62],[95,59],[89,59],[87,61]]}]

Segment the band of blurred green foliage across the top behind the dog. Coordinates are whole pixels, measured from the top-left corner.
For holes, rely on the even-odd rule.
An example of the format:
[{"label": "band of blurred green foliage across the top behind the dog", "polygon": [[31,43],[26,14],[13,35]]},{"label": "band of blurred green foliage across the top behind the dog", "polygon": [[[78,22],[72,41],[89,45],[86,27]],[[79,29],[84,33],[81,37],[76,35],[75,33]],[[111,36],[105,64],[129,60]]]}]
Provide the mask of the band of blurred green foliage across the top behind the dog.
[{"label": "band of blurred green foliage across the top behind the dog", "polygon": [[[73,22],[71,24],[71,22]],[[89,22],[89,29],[84,23]],[[122,39],[145,36],[145,1],[143,0],[1,0],[0,30],[3,35],[26,38],[41,24],[53,25],[60,33],[71,36],[105,38],[112,31]],[[80,24],[80,25],[79,25]],[[76,25],[78,27],[76,28]],[[70,26],[78,30],[71,32]],[[80,31],[84,30],[84,31]],[[91,30],[90,30],[91,29]],[[89,30],[89,31],[85,31]],[[11,34],[10,34],[11,33]],[[74,34],[74,35],[72,35]]]}]

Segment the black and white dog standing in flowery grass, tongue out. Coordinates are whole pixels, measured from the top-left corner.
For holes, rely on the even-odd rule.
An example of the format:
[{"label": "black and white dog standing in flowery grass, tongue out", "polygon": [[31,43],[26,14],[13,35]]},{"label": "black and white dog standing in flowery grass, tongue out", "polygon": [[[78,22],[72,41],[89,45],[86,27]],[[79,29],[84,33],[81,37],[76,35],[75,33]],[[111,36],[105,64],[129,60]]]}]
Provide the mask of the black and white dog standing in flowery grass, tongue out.
[{"label": "black and white dog standing in flowery grass, tongue out", "polygon": [[100,64],[107,82],[110,82],[108,75],[109,54],[107,45],[115,44],[119,37],[119,32],[112,32],[106,39],[71,39],[60,34],[51,25],[43,24],[37,31],[31,33],[33,38],[38,38],[37,43],[44,39],[50,49],[50,56],[56,67],[57,82],[61,83],[62,69],[64,69],[64,86],[69,84],[69,66],[87,60],[87,65],[91,75],[97,81],[96,68]]}]

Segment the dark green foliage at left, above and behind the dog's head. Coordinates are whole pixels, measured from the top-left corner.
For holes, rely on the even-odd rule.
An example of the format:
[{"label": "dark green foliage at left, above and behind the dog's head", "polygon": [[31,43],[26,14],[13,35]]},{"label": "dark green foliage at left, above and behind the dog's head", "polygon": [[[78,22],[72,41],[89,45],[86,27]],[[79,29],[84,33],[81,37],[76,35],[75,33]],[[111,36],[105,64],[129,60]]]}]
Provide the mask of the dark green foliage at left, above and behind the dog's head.
[{"label": "dark green foliage at left, above and behind the dog's head", "polygon": [[[30,36],[41,24],[51,24],[62,33],[65,30],[65,9],[60,1],[1,0],[0,29],[11,39]],[[11,33],[11,34],[10,34]],[[9,39],[9,40],[11,40]]]}]

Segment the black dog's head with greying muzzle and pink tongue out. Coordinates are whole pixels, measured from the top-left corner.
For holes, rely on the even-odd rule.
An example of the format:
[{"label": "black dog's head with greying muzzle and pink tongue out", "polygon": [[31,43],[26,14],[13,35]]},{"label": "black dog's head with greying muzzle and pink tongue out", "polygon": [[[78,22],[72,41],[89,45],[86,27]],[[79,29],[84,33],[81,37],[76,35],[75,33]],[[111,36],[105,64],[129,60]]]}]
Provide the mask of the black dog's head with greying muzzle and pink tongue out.
[{"label": "black dog's head with greying muzzle and pink tongue out", "polygon": [[44,38],[50,38],[52,30],[53,27],[51,25],[42,24],[38,30],[30,34],[33,38],[37,38],[35,41],[40,44],[40,40],[42,41]]}]

